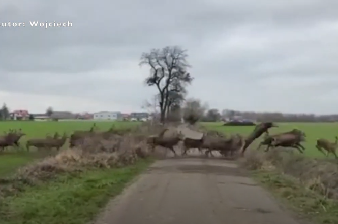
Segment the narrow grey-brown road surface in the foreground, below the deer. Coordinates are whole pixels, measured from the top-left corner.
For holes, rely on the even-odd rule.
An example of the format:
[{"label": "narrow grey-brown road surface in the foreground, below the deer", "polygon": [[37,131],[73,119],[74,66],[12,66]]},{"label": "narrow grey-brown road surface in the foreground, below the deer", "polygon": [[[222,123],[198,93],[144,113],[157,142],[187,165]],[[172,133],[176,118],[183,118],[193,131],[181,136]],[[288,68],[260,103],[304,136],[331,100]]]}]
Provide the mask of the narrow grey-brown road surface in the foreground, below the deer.
[{"label": "narrow grey-brown road surface in the foreground, below the deer", "polygon": [[296,224],[235,163],[158,161],[113,200],[97,224]]}]

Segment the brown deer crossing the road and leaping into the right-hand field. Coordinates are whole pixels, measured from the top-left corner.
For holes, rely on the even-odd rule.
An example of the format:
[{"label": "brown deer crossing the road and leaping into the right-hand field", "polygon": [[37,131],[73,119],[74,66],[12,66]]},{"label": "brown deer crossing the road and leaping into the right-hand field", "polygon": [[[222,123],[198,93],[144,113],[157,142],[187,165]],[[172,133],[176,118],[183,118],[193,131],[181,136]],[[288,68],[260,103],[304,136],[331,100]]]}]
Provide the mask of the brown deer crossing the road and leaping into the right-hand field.
[{"label": "brown deer crossing the road and leaping into the right-hand field", "polygon": [[[270,135],[268,130],[273,127],[278,127],[272,122],[263,122],[259,125],[256,125],[255,129],[247,137],[243,137],[240,134],[232,134],[230,137],[226,137],[220,133],[207,132],[199,139],[192,139],[183,136],[181,132],[178,132],[176,135],[171,137],[164,137],[164,133],[168,129],[164,129],[159,135],[149,136],[147,139],[148,144],[152,148],[155,146],[162,146],[169,148],[170,151],[176,156],[174,146],[178,145],[179,142],[182,142],[182,155],[187,155],[187,152],[192,148],[197,148],[200,153],[202,150],[205,151],[205,155],[208,157],[209,154],[213,156],[212,151],[219,152],[222,156],[233,157],[236,153],[240,152],[243,156],[247,148],[253,143],[254,140],[263,136],[263,140],[259,143],[257,150],[259,150],[263,145],[266,146],[265,152],[268,152],[270,148],[274,147],[289,147],[295,148],[300,153],[303,153],[305,148],[301,142],[305,141],[306,134],[298,129],[293,129],[288,132],[283,132],[279,134]],[[336,159],[338,156],[336,154],[336,148],[338,146],[338,137],[335,138],[335,142],[330,142],[327,139],[320,138],[316,142],[316,148],[323,153],[326,157],[329,154],[333,154]]]}]

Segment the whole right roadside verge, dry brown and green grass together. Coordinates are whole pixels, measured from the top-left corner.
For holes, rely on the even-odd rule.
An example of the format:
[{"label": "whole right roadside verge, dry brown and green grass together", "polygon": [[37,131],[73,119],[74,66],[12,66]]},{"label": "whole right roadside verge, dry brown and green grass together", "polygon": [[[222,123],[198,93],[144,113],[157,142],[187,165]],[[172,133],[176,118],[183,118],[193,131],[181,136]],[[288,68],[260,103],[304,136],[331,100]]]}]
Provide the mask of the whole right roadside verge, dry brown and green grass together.
[{"label": "whole right roadside verge, dry brown and green grass together", "polygon": [[249,151],[240,164],[294,210],[318,223],[338,222],[338,164],[335,160],[305,157],[275,148],[268,153]]}]

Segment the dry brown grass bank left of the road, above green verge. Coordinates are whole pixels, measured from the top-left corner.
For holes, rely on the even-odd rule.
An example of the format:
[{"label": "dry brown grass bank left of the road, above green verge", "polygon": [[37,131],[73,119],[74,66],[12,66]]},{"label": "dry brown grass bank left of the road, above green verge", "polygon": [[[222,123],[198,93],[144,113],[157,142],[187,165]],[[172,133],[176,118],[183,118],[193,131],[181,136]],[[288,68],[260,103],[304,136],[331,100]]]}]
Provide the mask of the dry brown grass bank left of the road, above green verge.
[{"label": "dry brown grass bank left of the road, above green verge", "polygon": [[0,179],[0,198],[23,191],[26,185],[35,186],[59,174],[77,174],[88,169],[123,167],[134,164],[139,158],[160,155],[151,152],[146,144],[149,134],[158,133],[161,126],[147,123],[130,129],[124,135],[85,139],[76,148],[68,148],[35,163],[21,167],[13,176]]}]

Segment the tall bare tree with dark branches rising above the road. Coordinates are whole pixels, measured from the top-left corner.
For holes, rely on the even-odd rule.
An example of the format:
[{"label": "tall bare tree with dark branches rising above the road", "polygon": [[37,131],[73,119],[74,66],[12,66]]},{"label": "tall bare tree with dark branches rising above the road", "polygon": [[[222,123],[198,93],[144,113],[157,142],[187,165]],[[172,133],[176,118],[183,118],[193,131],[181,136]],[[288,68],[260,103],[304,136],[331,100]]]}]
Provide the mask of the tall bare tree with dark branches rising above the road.
[{"label": "tall bare tree with dark branches rising above the road", "polygon": [[156,86],[159,91],[159,106],[161,122],[165,122],[170,103],[170,94],[185,92],[185,87],[191,84],[193,77],[187,72],[190,68],[187,62],[187,50],[177,46],[167,46],[162,49],[152,49],[143,53],[140,66],[150,67],[150,75],[145,79],[148,86]]}]

